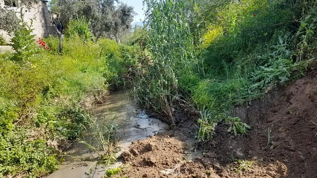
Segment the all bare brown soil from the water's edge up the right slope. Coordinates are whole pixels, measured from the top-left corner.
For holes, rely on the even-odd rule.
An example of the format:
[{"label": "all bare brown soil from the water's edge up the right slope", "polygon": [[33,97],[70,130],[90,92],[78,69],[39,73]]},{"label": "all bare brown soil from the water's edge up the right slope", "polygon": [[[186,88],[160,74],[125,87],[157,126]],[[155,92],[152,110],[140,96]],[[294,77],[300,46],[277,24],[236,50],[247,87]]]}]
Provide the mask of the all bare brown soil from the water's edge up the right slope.
[{"label": "all bare brown soil from the water's edge up the right slope", "polygon": [[130,165],[116,177],[316,178],[316,75],[317,70],[309,71],[266,101],[236,108],[236,115],[252,126],[249,133],[232,136],[220,123],[194,160],[187,159],[193,150],[188,137],[195,132],[190,120],[180,121],[176,132],[134,142],[122,154]]}]

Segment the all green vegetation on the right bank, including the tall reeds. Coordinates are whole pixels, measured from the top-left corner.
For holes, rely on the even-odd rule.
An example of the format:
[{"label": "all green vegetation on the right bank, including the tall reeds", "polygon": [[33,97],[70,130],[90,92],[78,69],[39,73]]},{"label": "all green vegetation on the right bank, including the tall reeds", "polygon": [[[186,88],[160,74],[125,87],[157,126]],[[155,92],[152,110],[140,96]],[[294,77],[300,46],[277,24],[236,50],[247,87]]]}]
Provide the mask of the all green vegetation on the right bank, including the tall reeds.
[{"label": "all green vegetation on the right bank, including the tall reeds", "polygon": [[[250,128],[233,108],[265,97],[271,86],[303,75],[315,60],[317,2],[313,0],[146,0],[146,50],[135,96],[166,115],[180,104],[202,110],[198,141],[217,122],[234,135]],[[272,87],[271,87],[272,88]],[[228,119],[231,118],[231,119]]]}]

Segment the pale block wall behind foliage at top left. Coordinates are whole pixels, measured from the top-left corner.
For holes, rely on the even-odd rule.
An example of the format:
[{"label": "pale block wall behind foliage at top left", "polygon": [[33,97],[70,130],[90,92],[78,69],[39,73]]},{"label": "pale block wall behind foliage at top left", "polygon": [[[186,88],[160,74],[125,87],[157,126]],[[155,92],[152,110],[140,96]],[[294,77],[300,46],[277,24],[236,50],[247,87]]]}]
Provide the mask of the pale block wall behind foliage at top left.
[{"label": "pale block wall behind foliage at top left", "polygon": [[[4,7],[4,0],[0,0],[0,6]],[[16,12],[20,12],[21,8],[18,7],[10,7],[11,10]],[[49,34],[54,34],[54,30],[52,27],[52,20],[51,15],[48,9],[48,5],[43,2],[39,1],[34,8],[27,10],[23,9],[24,13],[24,21],[30,24],[30,19],[33,19],[34,28],[33,34],[36,35],[36,38],[48,37]],[[17,13],[19,16],[20,14]],[[0,34],[3,34],[3,37],[6,39],[7,42],[10,41],[10,36],[8,36],[4,31],[0,31]]]}]

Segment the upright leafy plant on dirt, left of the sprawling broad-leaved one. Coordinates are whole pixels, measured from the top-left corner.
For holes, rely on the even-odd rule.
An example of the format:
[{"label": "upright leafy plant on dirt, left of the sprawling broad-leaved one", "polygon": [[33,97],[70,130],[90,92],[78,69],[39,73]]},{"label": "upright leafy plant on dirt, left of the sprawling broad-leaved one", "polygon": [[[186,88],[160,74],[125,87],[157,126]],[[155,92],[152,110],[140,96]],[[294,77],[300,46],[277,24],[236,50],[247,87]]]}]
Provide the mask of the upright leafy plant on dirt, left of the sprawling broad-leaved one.
[{"label": "upright leafy plant on dirt, left of the sprawling broad-leaved one", "polygon": [[212,117],[212,113],[207,109],[199,111],[199,114],[201,118],[197,121],[199,124],[199,126],[197,126],[199,129],[198,142],[204,142],[205,140],[208,140],[212,137],[215,127],[217,126],[217,122],[215,122],[214,118]]}]

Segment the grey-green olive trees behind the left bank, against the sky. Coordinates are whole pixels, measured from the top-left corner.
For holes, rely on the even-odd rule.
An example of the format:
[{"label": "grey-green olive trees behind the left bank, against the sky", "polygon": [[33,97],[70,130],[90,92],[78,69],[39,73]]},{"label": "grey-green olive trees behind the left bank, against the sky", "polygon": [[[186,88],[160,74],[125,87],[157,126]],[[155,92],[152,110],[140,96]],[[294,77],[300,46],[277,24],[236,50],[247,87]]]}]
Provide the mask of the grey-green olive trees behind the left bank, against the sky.
[{"label": "grey-green olive trees behind the left bank, against the sky", "polygon": [[123,31],[131,27],[135,15],[132,6],[118,0],[54,0],[51,1],[51,9],[60,13],[63,24],[84,16],[95,41],[110,32],[120,42]]}]

